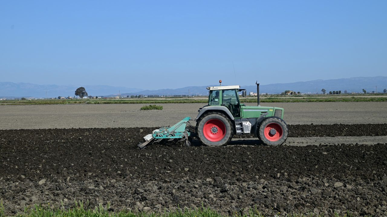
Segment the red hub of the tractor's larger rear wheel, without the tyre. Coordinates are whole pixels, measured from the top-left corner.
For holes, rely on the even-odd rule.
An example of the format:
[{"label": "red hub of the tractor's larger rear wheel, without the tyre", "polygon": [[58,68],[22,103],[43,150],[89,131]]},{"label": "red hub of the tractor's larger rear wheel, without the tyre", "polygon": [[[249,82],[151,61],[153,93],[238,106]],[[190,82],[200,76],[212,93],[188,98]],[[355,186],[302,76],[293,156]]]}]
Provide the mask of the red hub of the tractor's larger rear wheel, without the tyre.
[{"label": "red hub of the tractor's larger rear wheel, without the tyre", "polygon": [[219,119],[211,119],[205,122],[203,134],[211,142],[219,142],[226,135],[226,125]]}]

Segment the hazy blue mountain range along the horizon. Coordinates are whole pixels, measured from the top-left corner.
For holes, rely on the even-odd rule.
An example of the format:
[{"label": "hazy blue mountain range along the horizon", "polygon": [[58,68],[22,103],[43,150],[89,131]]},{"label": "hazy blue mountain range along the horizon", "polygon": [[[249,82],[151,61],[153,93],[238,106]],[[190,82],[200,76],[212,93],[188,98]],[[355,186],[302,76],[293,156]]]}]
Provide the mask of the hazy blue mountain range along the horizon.
[{"label": "hazy blue mountain range along the horizon", "polygon": [[[122,86],[108,86],[108,85],[84,85],[87,93],[92,96],[111,97],[121,93],[126,95],[207,95],[207,86],[187,86],[177,89],[159,89],[159,90],[142,90],[139,88],[128,88]],[[376,77],[354,77],[341,78],[330,80],[313,80],[313,81],[299,81],[293,83],[275,83],[268,85],[260,85],[260,93],[281,93],[285,90],[293,90],[301,93],[321,93],[322,88],[327,92],[347,90],[348,92],[362,92],[363,89],[368,92],[376,91],[383,92],[387,88],[387,76]],[[13,83],[0,82],[0,98],[20,98],[20,97],[67,97],[74,96],[75,90],[79,86],[73,85],[37,85],[31,83]],[[247,92],[257,92],[257,86],[241,85],[241,88]]]}]

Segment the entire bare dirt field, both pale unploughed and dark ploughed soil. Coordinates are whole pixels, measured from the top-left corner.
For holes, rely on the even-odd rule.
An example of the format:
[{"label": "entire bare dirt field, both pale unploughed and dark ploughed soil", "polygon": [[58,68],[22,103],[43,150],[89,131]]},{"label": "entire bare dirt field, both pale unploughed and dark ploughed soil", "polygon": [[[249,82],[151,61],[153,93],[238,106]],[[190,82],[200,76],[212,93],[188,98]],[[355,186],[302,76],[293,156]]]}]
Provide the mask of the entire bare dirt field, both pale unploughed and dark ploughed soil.
[{"label": "entire bare dirt field, both pale unploughed and dark ploughed soil", "polygon": [[143,150],[156,126],[195,117],[202,104],[0,106],[0,199],[6,214],[89,200],[114,211],[203,204],[230,215],[257,206],[265,216],[387,216],[385,102],[270,105],[285,108],[283,146],[243,135],[224,147],[194,139]]}]

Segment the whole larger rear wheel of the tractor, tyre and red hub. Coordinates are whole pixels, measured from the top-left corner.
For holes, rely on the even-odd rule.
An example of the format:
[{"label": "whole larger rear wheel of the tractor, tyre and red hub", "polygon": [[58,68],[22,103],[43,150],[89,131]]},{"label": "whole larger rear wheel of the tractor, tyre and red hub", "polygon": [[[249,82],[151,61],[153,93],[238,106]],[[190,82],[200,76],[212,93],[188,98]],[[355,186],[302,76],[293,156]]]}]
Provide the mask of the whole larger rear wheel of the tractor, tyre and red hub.
[{"label": "whole larger rear wheel of the tractor, tyre and red hub", "polygon": [[207,146],[222,146],[233,137],[231,121],[225,115],[209,112],[197,122],[197,136]]}]

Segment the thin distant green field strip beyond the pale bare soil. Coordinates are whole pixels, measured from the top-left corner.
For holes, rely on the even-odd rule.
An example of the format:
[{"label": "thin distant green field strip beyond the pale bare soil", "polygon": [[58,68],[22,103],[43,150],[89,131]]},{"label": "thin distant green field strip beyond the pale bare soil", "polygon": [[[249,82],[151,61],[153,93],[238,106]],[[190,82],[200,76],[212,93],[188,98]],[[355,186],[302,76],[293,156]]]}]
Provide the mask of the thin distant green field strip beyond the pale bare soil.
[{"label": "thin distant green field strip beyond the pale bare soil", "polygon": [[[256,103],[257,98],[241,98],[241,103]],[[50,99],[50,100],[1,100],[0,105],[53,105],[53,104],[116,104],[116,103],[207,103],[207,98],[139,98],[139,99]],[[387,95],[295,95],[262,96],[260,102],[387,102]]]}]

